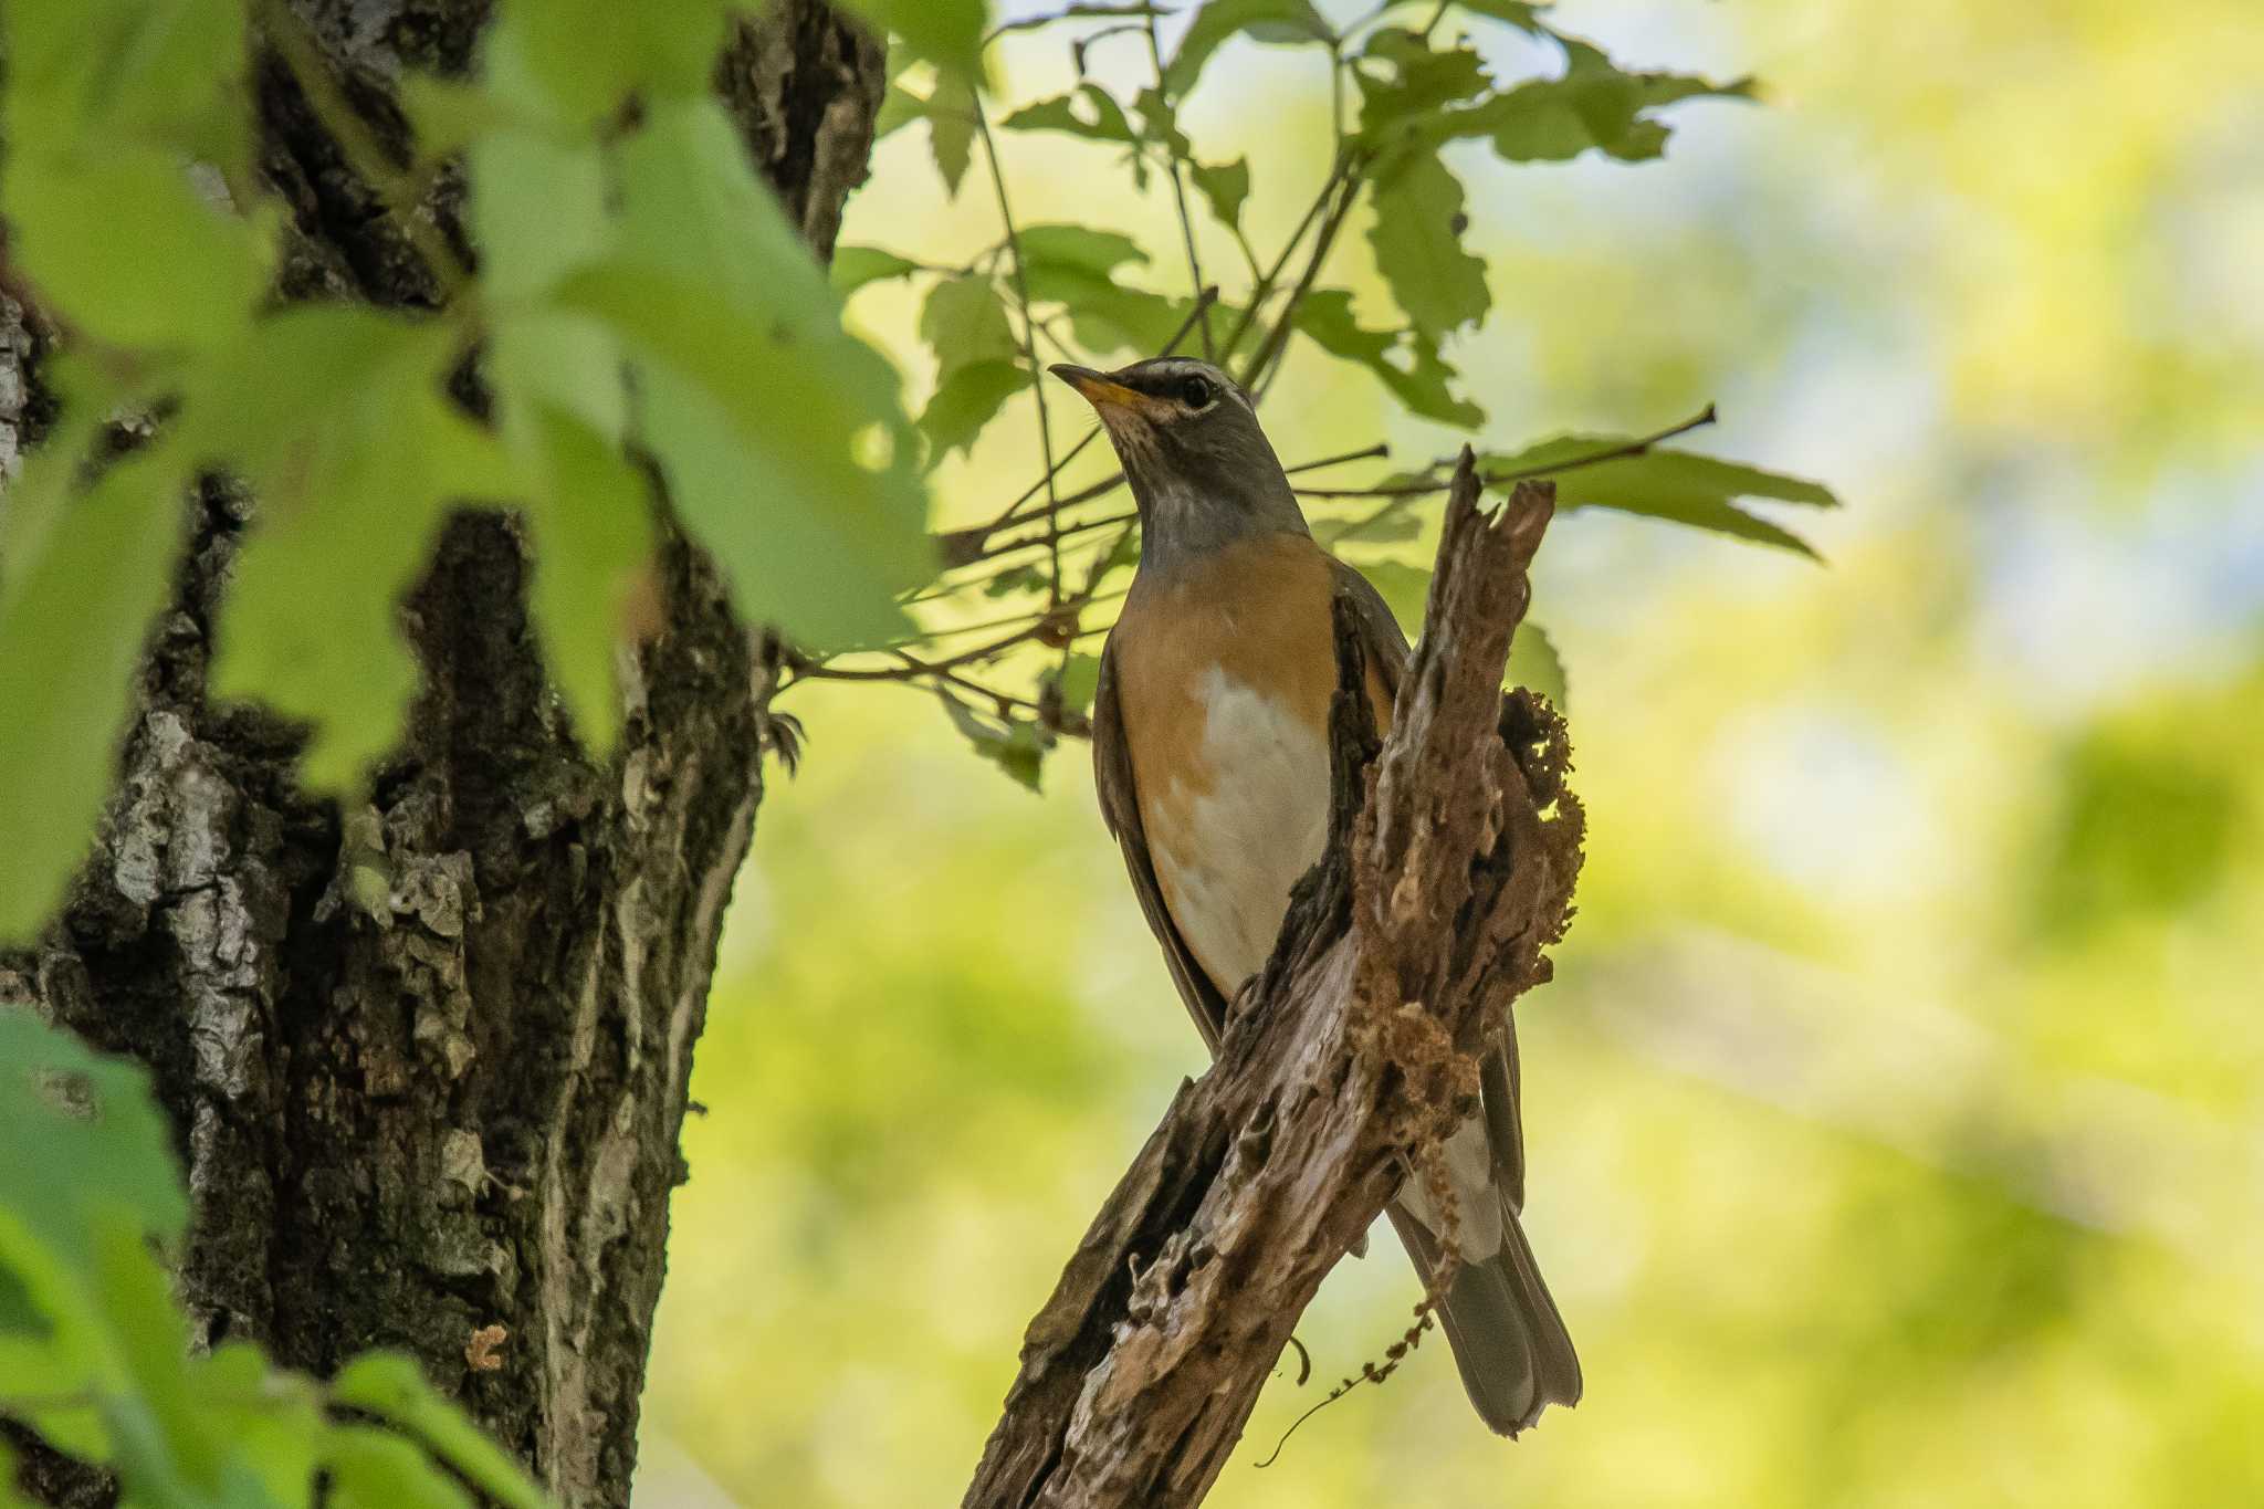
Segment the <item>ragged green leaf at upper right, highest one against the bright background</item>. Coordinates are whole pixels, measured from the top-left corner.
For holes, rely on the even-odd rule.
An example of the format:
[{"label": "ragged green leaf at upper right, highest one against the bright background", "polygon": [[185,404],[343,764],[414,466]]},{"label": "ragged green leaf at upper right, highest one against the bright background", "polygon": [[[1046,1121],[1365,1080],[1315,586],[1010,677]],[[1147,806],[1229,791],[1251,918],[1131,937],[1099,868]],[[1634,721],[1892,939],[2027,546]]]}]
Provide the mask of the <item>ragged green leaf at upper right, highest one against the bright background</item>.
[{"label": "ragged green leaf at upper right, highest one against the bright background", "polygon": [[1623,163],[1666,149],[1666,124],[1650,111],[1703,95],[1750,100],[1752,81],[1714,84],[1675,72],[1621,72],[1596,48],[1564,43],[1564,75],[1533,79],[1469,111],[1451,111],[1440,136],[1487,136],[1512,163],[1562,163],[1596,149]]}]

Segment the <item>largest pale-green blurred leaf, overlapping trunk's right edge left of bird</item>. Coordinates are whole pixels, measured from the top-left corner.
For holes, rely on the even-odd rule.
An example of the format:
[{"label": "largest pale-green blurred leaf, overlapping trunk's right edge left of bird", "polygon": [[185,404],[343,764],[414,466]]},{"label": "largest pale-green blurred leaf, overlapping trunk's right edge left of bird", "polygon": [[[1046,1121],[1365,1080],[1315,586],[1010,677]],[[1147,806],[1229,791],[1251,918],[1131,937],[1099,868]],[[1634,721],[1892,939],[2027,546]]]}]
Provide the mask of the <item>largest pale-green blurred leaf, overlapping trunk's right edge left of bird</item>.
[{"label": "largest pale-green blurred leaf, overlapping trunk's right edge left of bird", "polygon": [[616,260],[559,301],[641,367],[643,441],[749,622],[808,647],[894,638],[933,570],[894,369],[840,326],[722,109],[654,111],[618,152]]}]

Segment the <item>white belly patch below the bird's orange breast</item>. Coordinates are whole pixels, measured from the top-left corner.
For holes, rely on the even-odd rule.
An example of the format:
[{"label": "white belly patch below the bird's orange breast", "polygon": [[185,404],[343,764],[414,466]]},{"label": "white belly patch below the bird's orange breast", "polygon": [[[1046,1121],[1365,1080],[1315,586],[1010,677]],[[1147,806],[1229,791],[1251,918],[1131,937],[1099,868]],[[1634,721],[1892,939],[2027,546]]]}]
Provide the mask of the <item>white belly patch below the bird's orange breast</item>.
[{"label": "white belly patch below the bird's orange breast", "polygon": [[1207,787],[1173,781],[1148,801],[1148,855],[1180,937],[1232,995],[1266,966],[1288,891],[1329,839],[1329,747],[1275,697],[1211,667],[1204,708]]}]

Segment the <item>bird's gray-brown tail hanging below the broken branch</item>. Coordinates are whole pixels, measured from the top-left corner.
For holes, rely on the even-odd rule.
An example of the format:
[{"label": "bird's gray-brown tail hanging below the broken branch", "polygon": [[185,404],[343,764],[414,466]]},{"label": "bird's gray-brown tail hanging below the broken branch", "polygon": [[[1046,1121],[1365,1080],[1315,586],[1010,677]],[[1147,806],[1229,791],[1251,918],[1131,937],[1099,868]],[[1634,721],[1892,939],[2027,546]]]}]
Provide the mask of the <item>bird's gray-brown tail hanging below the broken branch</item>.
[{"label": "bird's gray-brown tail hanging below the broken branch", "polygon": [[[1533,1425],[1549,1405],[1580,1403],[1580,1357],[1571,1351],[1564,1317],[1549,1299],[1533,1244],[1517,1224],[1508,1190],[1485,1185],[1492,1210],[1465,1199],[1463,1219],[1501,1219],[1501,1247],[1485,1258],[1465,1256],[1438,1305],[1463,1387],[1478,1416],[1503,1437]],[[1392,1226],[1415,1269],[1429,1283],[1438,1274],[1440,1242],[1404,1199],[1390,1206]],[[1465,1249],[1469,1242],[1463,1244]]]}]

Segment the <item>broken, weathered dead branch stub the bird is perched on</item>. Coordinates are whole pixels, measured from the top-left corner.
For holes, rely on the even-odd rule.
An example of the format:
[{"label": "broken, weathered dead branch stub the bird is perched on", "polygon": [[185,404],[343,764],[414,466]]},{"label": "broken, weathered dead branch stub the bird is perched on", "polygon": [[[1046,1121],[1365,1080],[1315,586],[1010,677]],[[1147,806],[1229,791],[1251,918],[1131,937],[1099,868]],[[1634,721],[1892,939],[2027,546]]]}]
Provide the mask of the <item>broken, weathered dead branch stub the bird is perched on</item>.
[{"label": "broken, weathered dead branch stub the bird is perched on", "polygon": [[1320,1281],[1476,1109],[1474,1050],[1549,977],[1583,814],[1562,722],[1499,688],[1553,489],[1492,518],[1476,495],[1465,450],[1381,753],[1340,609],[1327,855],[1030,1321],[969,1509],[1200,1502]]}]

